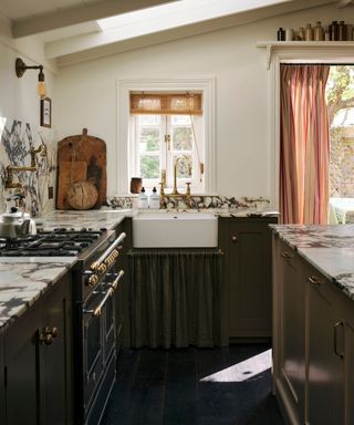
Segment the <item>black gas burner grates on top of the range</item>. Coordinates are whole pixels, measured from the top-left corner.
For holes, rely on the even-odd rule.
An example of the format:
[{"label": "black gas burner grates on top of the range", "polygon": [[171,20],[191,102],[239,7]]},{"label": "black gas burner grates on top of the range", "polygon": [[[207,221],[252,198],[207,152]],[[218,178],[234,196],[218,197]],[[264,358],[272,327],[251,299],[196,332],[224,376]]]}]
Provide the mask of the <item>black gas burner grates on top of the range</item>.
[{"label": "black gas burner grates on top of the range", "polygon": [[41,230],[25,238],[0,239],[0,257],[73,257],[95,243],[106,229]]}]

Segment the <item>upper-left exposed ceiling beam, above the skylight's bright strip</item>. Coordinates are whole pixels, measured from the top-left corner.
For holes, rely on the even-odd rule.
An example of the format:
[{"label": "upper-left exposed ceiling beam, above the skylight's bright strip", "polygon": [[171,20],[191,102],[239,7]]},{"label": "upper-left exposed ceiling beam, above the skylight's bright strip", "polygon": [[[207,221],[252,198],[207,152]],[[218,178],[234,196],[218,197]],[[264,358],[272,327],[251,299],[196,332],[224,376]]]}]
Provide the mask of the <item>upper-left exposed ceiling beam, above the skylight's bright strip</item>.
[{"label": "upper-left exposed ceiling beam, above the skylight's bright strip", "polygon": [[[132,12],[157,4],[169,3],[171,0],[105,0],[88,3],[85,8],[75,7],[41,14],[40,17],[14,21],[12,37],[20,38],[40,32],[69,27],[85,21],[112,17],[114,14]],[[175,0],[178,1],[178,0]]]}]

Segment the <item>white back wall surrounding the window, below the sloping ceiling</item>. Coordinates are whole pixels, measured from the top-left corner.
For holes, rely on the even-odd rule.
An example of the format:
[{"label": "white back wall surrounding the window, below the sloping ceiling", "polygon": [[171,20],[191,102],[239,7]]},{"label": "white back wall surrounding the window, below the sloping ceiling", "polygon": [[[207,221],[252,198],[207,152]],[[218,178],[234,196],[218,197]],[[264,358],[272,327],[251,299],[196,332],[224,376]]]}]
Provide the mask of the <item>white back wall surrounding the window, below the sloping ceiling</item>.
[{"label": "white back wall surrounding the window, below the sloping ceiling", "polygon": [[[273,198],[269,72],[266,70],[266,52],[257,49],[256,43],[275,40],[279,27],[298,29],[317,20],[326,24],[333,19],[354,21],[348,11],[352,9],[312,9],[60,69],[53,102],[59,136],[81,134],[82,128],[87,127],[88,134],[106,142],[107,194],[113,195],[119,160],[117,79],[212,74],[217,99],[217,191],[227,196]],[[10,63],[15,54],[1,49]],[[6,108],[6,114],[35,118],[37,113],[31,108],[35,107],[35,100],[29,94],[30,87],[22,86],[22,82],[19,86],[14,73],[8,68],[0,70],[0,90],[6,90],[7,97],[11,99],[6,106],[0,100],[0,111]],[[7,83],[1,81],[4,73],[9,74]]]}]

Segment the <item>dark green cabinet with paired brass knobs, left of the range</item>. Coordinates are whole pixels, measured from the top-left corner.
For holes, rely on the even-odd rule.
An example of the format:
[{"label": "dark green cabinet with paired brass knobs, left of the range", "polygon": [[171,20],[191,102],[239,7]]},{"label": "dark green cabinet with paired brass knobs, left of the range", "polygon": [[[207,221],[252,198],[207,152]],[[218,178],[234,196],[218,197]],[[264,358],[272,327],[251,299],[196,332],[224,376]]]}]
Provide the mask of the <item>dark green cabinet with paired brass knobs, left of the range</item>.
[{"label": "dark green cabinet with paired brass knobs, left of the range", "polygon": [[3,336],[6,423],[72,422],[70,280],[55,283]]}]

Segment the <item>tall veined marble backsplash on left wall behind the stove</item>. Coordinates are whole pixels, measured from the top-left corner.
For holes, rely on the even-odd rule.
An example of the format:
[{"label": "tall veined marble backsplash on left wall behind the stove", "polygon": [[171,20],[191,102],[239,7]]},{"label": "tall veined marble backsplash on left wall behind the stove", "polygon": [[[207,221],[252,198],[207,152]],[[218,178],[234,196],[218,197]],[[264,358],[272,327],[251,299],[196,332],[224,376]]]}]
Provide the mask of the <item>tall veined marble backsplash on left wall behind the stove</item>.
[{"label": "tall veined marble backsplash on left wall behind the stove", "polygon": [[13,183],[21,183],[25,195],[25,209],[37,216],[54,209],[56,188],[58,139],[55,132],[18,120],[0,117],[0,211],[6,210],[7,197],[17,189],[7,189],[7,166],[30,166],[30,149],[41,143],[46,155],[35,155],[34,172],[13,172]]}]

